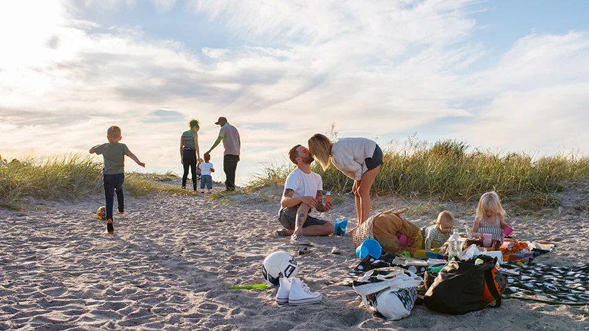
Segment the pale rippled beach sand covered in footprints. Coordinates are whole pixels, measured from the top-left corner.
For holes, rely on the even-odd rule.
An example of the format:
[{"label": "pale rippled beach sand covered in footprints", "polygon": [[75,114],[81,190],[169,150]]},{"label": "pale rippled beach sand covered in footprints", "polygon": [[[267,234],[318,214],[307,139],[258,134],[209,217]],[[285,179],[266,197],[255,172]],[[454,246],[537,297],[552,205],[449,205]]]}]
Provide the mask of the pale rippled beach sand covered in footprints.
[{"label": "pale rippled beach sand covered in footprints", "polygon": [[[24,211],[0,209],[0,330],[587,330],[587,306],[504,299],[500,308],[442,315],[416,306],[387,321],[367,312],[341,279],[359,260],[350,235],[310,238],[297,256],[299,276],[323,301],[278,306],[276,288],[231,290],[257,284],[261,262],[273,251],[300,247],[275,238],[281,187],[211,200],[200,196],[126,197],[115,234],[94,214],[103,196],[76,203],[32,201]],[[557,244],[538,262],[588,262],[587,184],[561,193],[563,207],[544,216],[517,214],[505,205],[513,236]],[[353,197],[334,196],[321,217],[354,219]],[[374,198],[374,211],[418,200]],[[579,207],[581,206],[581,207]],[[441,206],[440,206],[441,207]],[[457,227],[472,225],[471,203],[445,203]],[[433,224],[439,210],[408,216]],[[352,221],[350,221],[352,222]],[[353,222],[352,222],[353,223]],[[353,225],[353,224],[352,224]],[[460,229],[462,229],[460,227]],[[341,255],[330,254],[337,247]]]}]

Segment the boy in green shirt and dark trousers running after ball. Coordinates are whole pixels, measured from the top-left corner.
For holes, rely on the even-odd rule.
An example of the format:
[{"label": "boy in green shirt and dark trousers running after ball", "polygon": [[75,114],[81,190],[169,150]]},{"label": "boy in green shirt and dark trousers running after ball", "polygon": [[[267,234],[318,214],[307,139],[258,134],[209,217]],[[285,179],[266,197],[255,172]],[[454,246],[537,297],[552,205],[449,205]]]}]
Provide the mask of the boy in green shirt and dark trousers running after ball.
[{"label": "boy in green shirt and dark trousers running after ball", "polygon": [[118,201],[118,212],[120,214],[125,214],[125,203],[122,195],[122,183],[125,182],[125,155],[142,167],[145,167],[145,163],[139,161],[139,159],[131,153],[127,145],[119,143],[122,137],[118,126],[113,125],[107,130],[107,139],[109,141],[108,143],[90,148],[90,154],[102,154],[105,160],[103,182],[105,185],[107,208],[107,231],[108,233],[114,233],[114,227],[112,224],[114,192],[116,192],[116,200]]}]

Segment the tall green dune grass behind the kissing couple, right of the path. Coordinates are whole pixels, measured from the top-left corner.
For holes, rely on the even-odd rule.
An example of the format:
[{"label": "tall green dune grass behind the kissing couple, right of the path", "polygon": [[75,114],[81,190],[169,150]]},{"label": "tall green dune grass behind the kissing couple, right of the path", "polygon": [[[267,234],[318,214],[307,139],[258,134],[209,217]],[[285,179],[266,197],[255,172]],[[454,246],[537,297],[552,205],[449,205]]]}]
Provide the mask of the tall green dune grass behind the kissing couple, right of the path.
[{"label": "tall green dune grass behind the kissing couple, right of the path", "polygon": [[[494,190],[505,201],[534,208],[558,205],[555,193],[563,190],[566,183],[589,179],[589,158],[577,153],[539,157],[526,152],[469,150],[467,144],[456,140],[429,144],[415,137],[409,137],[402,145],[391,142],[381,148],[384,164],[372,187],[374,194],[470,201]],[[293,167],[266,164],[248,189],[283,185]],[[333,165],[324,172],[314,162],[312,170],[323,178],[325,190],[352,190],[352,179]]]}]

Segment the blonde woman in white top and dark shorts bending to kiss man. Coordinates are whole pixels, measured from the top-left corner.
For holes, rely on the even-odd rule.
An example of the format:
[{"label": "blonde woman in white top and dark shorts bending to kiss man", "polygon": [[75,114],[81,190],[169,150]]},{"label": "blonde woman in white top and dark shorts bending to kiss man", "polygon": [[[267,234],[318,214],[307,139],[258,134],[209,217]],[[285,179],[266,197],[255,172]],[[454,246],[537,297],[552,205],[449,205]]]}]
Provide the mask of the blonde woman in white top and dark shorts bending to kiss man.
[{"label": "blonde woman in white top and dark shorts bending to kiss man", "polygon": [[321,133],[310,137],[308,144],[323,170],[328,170],[331,161],[335,168],[354,179],[352,191],[356,198],[358,225],[350,233],[354,232],[370,216],[370,189],[383,164],[383,151],[376,141],[370,139],[342,138],[333,143]]}]

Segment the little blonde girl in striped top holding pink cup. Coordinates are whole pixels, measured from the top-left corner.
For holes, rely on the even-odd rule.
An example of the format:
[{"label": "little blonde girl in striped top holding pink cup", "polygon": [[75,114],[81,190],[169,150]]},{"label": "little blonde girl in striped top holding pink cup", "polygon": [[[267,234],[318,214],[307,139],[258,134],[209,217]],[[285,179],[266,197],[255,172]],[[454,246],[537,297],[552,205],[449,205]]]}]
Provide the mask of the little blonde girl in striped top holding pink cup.
[{"label": "little blonde girl in striped top holding pink cup", "polygon": [[501,199],[495,192],[486,192],[480,197],[478,203],[473,236],[482,240],[483,233],[493,235],[492,248],[498,250],[504,239],[505,225],[505,209],[501,206]]}]

